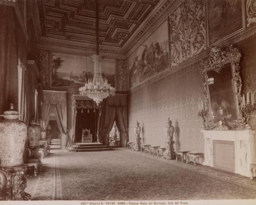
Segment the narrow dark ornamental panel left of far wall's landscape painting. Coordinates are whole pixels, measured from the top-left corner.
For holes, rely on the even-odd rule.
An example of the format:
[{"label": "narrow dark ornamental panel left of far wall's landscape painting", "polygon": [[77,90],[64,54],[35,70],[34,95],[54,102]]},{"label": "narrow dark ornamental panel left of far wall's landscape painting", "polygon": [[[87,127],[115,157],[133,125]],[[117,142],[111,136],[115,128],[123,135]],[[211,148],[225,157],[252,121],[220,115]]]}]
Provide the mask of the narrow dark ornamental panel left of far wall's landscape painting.
[{"label": "narrow dark ornamental panel left of far wall's landscape painting", "polygon": [[50,86],[50,52],[38,49],[38,70],[42,86]]}]

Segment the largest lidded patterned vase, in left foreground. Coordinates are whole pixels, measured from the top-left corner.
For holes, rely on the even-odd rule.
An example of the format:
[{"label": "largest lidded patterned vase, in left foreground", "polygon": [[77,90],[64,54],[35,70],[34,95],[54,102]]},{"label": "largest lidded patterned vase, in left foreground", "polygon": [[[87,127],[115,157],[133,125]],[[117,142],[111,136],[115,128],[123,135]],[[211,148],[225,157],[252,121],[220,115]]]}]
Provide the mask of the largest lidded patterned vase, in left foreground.
[{"label": "largest lidded patterned vase, in left foreground", "polygon": [[27,125],[18,120],[19,115],[14,111],[13,104],[1,116],[4,120],[0,121],[0,166],[22,165]]}]

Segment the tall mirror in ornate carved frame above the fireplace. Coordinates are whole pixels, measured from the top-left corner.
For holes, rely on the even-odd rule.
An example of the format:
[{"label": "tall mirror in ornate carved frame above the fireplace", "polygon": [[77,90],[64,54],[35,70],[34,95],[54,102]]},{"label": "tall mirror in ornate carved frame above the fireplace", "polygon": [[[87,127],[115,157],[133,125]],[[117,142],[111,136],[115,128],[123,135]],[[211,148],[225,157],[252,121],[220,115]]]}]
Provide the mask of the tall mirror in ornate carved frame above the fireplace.
[{"label": "tall mirror in ornate carved frame above the fireplace", "polygon": [[223,126],[223,122],[227,130],[242,129],[244,126],[240,58],[239,50],[231,45],[224,50],[212,48],[209,57],[200,62],[209,130],[216,129],[219,124]]}]

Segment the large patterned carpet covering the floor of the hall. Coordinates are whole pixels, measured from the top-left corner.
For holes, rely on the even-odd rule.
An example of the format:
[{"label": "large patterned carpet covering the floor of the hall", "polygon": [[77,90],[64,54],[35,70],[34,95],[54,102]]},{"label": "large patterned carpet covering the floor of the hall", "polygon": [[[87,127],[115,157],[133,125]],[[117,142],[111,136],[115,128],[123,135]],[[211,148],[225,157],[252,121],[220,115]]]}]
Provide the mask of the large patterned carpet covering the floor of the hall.
[{"label": "large patterned carpet covering the floor of the hall", "polygon": [[126,148],[52,152],[28,179],[32,200],[256,199],[256,180],[207,166]]}]

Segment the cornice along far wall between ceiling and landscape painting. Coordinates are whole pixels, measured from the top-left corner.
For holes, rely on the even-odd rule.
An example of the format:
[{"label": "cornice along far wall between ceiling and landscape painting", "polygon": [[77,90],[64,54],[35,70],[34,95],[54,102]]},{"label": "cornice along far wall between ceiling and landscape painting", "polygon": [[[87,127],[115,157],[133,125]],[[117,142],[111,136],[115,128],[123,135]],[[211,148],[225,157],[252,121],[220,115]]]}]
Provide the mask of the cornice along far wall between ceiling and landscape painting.
[{"label": "cornice along far wall between ceiling and landscape painting", "polygon": [[[91,56],[95,54],[95,49],[86,49],[81,47],[63,47],[60,45],[54,45],[54,44],[41,44],[37,43],[37,49],[44,49],[44,50],[50,50],[51,52],[56,53],[64,53],[64,54],[72,54],[72,55],[80,55],[80,56]],[[100,56],[103,56],[104,58],[109,59],[124,59],[124,55],[122,54],[116,54],[116,53],[109,53],[109,52],[102,52],[100,49]]]}]

